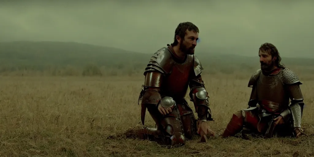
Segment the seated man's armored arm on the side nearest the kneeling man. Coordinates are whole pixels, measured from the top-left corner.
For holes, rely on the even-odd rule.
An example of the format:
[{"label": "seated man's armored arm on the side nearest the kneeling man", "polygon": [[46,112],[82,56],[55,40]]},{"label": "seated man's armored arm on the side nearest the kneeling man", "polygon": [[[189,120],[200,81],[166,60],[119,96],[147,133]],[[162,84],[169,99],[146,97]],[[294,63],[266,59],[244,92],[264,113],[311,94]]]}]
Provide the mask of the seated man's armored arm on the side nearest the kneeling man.
[{"label": "seated man's armored arm on the side nearest the kneeling man", "polygon": [[258,100],[258,97],[257,97],[257,88],[256,88],[256,83],[257,83],[257,79],[259,78],[259,75],[261,73],[261,69],[255,71],[250,80],[249,80],[249,83],[248,83],[248,87],[251,87],[252,88],[252,91],[251,91],[251,95],[250,95],[250,100],[248,102],[248,108],[250,107],[255,107],[257,105],[257,100]]}]

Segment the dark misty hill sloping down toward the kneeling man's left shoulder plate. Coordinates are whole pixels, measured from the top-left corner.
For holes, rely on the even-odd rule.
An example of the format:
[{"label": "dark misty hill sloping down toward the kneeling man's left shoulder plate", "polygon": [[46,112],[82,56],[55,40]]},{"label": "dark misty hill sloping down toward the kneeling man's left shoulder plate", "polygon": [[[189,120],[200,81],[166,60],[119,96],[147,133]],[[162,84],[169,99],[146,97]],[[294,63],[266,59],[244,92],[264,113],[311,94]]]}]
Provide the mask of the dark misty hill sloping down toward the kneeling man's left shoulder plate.
[{"label": "dark misty hill sloping down toward the kneeling man's left shoulder plate", "polygon": [[[137,64],[148,55],[73,42],[2,42],[0,66],[98,66]],[[135,61],[135,62],[133,62]]]}]

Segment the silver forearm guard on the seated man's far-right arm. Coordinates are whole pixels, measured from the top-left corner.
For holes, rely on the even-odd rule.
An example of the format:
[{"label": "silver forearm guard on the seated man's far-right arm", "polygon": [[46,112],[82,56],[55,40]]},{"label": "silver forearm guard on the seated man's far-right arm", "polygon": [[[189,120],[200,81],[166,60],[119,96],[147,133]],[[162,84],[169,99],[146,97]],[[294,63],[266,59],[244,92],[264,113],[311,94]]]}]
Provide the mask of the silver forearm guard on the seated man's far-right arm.
[{"label": "silver forearm guard on the seated man's far-right arm", "polygon": [[290,106],[293,127],[301,128],[303,105],[303,102],[297,102]]}]

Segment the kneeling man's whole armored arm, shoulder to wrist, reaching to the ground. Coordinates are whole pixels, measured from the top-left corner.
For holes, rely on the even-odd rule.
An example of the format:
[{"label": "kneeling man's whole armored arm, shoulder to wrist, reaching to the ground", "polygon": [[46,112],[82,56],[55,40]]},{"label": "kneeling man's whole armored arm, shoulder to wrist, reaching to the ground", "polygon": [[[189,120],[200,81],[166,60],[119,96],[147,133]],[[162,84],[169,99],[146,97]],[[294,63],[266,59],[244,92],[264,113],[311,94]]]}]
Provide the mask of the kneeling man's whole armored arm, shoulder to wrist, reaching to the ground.
[{"label": "kneeling man's whole armored arm, shoulder to wrist, reaching to the ground", "polygon": [[193,69],[192,78],[189,83],[189,96],[194,104],[195,111],[198,114],[198,119],[204,121],[213,121],[211,110],[209,108],[208,92],[205,89],[201,76],[203,67],[196,56],[194,56]]}]

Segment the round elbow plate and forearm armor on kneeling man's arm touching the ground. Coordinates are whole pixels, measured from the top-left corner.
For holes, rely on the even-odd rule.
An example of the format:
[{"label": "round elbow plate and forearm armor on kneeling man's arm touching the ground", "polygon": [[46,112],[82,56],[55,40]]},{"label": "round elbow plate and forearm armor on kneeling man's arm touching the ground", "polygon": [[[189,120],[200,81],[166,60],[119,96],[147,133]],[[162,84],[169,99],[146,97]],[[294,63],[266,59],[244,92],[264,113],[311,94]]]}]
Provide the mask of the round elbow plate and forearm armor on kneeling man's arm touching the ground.
[{"label": "round elbow plate and forearm armor on kneeling man's arm touching the ground", "polygon": [[195,106],[195,110],[200,120],[212,121],[211,111],[209,108],[208,93],[204,87],[198,87],[192,91],[192,100]]}]

